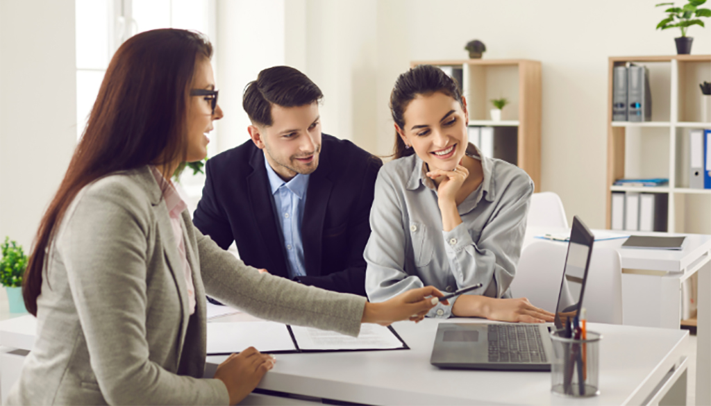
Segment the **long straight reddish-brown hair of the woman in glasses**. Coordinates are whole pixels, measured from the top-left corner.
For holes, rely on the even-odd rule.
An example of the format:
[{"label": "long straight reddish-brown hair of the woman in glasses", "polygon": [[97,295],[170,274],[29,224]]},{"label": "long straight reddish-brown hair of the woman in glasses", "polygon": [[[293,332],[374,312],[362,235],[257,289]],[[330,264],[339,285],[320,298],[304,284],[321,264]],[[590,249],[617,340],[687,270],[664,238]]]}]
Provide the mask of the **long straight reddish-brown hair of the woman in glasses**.
[{"label": "long straight reddish-brown hair of the woman in glasses", "polygon": [[196,61],[209,59],[212,52],[202,34],[175,29],[139,33],[116,51],[67,173],[34,239],[22,286],[31,314],[37,315],[48,247],[77,193],[115,171],[146,164],[165,171],[186,158],[189,87]]}]

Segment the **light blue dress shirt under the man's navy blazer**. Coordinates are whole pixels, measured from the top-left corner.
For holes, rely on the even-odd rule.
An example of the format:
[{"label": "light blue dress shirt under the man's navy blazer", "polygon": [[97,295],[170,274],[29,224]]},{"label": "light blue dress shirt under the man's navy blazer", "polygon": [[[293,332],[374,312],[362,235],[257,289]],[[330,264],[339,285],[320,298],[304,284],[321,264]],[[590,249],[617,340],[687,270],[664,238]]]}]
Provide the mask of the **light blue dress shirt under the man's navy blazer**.
[{"label": "light blue dress shirt under the man's navy blazer", "polygon": [[282,226],[289,278],[305,276],[301,221],[304,219],[306,189],[309,187],[309,176],[311,175],[297,173],[291,181],[285,182],[269,165],[267,156],[264,156],[264,165],[267,166],[267,176],[269,176],[269,184],[272,186],[277,224]]}]

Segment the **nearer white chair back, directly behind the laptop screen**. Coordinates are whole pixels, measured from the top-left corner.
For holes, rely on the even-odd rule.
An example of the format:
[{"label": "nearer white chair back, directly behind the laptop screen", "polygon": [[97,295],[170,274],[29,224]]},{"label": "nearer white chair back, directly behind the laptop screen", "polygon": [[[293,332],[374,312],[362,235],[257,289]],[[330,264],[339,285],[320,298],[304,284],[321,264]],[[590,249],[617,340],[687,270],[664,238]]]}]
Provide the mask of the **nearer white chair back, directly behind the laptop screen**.
[{"label": "nearer white chair back, directly behind the laptop screen", "polygon": [[[565,242],[540,241],[525,247],[511,283],[513,297],[555,311],[566,254]],[[565,289],[564,294],[570,294]],[[593,247],[583,307],[591,322],[622,324],[622,267],[616,250]]]}]

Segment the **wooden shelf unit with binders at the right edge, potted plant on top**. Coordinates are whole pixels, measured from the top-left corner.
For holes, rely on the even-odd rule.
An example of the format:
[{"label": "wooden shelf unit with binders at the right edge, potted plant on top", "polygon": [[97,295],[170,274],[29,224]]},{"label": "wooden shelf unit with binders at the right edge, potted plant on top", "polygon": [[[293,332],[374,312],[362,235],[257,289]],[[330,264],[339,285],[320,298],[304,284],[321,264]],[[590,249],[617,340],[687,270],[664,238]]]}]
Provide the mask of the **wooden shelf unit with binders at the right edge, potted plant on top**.
[{"label": "wooden shelf unit with binders at the right edge, potted plant on top", "polygon": [[[648,65],[650,68],[656,67],[656,73],[654,71],[650,73],[651,122],[612,121],[613,68],[628,62]],[[688,168],[685,168],[685,159],[688,159],[685,157],[685,154],[688,154],[685,148],[688,148],[688,144],[685,142],[688,139],[689,129],[711,128],[711,123],[699,122],[698,100],[700,97],[695,97],[697,94],[700,95],[699,78],[708,77],[711,77],[711,55],[615,56],[609,58],[606,178],[606,225],[608,228],[611,228],[611,193],[613,191],[634,191],[667,193],[669,195],[668,232],[711,234],[711,191],[688,188],[688,175],[684,173],[688,172]],[[627,137],[634,136],[643,139],[638,144],[646,148],[653,141],[663,140],[661,136],[664,136],[664,133],[668,134],[668,145],[663,146],[666,155],[659,158],[661,158],[660,165],[666,164],[665,161],[668,159],[668,172],[665,173],[665,176],[660,176],[659,173],[636,173],[630,176],[629,173],[625,173],[626,155],[638,152],[626,151],[626,141],[629,141]],[[646,164],[644,167],[649,169],[651,165]],[[616,179],[626,176],[668,177],[669,183],[668,186],[658,188],[630,188],[613,185]],[[699,221],[695,219],[699,219]]]}]

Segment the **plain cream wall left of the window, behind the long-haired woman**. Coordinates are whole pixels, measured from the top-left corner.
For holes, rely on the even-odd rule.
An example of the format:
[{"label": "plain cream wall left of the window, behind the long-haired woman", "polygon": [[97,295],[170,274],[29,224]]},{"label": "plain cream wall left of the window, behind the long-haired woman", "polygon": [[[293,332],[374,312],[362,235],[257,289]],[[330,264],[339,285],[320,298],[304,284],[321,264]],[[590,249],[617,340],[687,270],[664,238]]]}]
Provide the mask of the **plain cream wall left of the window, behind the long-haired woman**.
[{"label": "plain cream wall left of the window, behind the long-haired woman", "polygon": [[74,150],[74,0],[0,1],[0,238],[29,252]]}]

